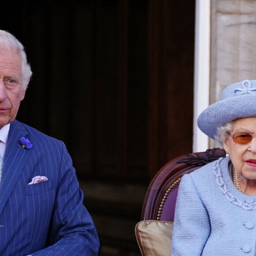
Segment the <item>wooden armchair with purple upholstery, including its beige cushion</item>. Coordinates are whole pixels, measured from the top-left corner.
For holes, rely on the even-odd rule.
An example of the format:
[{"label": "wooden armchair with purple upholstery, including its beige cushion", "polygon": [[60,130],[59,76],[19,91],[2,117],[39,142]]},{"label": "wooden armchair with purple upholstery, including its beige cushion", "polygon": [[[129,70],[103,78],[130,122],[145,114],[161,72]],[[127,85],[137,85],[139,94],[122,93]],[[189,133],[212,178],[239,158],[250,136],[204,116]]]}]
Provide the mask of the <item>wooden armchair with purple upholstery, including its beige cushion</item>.
[{"label": "wooden armchair with purple upholstery, including its beige cushion", "polygon": [[136,237],[143,256],[170,256],[172,226],[181,177],[225,157],[224,149],[214,148],[173,159],[151,181],[144,200]]}]

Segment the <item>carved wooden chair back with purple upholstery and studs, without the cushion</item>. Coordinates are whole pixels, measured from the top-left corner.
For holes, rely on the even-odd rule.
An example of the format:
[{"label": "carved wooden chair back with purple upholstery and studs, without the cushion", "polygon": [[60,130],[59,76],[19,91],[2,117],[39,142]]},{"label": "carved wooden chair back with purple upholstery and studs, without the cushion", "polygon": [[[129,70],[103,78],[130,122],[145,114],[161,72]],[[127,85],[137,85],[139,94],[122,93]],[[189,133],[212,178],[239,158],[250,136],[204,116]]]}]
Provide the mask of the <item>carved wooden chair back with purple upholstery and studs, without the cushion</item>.
[{"label": "carved wooden chair back with purple upholstery and studs, without the cushion", "polygon": [[141,220],[173,221],[181,177],[220,157],[224,149],[182,155],[168,162],[151,181],[144,200]]}]

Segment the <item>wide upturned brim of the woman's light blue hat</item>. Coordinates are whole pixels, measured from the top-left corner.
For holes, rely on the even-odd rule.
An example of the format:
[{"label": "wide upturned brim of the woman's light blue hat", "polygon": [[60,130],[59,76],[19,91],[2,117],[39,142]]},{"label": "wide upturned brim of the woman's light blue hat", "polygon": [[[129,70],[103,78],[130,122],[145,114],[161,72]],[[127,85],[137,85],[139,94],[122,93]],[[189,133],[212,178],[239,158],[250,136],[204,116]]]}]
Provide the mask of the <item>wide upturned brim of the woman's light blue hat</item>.
[{"label": "wide upturned brim of the woman's light blue hat", "polygon": [[243,94],[216,102],[197,119],[200,130],[215,139],[216,128],[237,118],[256,117],[256,94]]}]

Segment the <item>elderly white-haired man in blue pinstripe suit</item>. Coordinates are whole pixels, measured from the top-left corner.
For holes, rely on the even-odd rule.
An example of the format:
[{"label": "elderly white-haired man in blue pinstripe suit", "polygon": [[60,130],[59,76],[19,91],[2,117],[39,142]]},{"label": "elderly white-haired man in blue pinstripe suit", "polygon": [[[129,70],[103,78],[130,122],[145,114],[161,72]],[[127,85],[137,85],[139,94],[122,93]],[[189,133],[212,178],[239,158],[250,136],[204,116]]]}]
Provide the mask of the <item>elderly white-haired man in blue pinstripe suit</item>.
[{"label": "elderly white-haired man in blue pinstripe suit", "polygon": [[0,255],[97,255],[64,143],[15,120],[31,74],[23,45],[0,30]]}]

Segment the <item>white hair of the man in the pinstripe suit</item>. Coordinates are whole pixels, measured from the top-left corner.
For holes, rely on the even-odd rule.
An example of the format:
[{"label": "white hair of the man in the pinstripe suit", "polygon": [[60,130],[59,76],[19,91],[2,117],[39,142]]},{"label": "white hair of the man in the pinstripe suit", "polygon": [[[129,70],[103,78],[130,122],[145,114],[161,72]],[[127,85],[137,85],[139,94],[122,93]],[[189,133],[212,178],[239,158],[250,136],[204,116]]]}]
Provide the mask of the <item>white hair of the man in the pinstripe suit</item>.
[{"label": "white hair of the man in the pinstripe suit", "polygon": [[23,90],[26,90],[32,75],[32,71],[30,64],[27,63],[24,46],[17,38],[15,38],[15,36],[10,34],[8,31],[0,30],[0,49],[13,49],[20,54],[21,69],[23,75],[22,87]]}]

